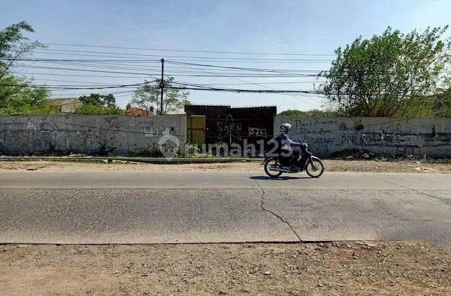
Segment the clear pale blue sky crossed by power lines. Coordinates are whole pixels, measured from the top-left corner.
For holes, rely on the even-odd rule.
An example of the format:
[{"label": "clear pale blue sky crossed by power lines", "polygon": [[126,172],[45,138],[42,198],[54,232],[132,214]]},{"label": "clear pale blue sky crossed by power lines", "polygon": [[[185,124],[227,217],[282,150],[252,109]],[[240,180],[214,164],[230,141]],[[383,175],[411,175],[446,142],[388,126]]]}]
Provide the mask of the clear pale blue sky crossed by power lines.
[{"label": "clear pale blue sky crossed by power lines", "polygon": [[[18,1],[2,0],[0,27],[27,20],[35,27],[31,35],[44,44],[96,44],[108,47],[138,47],[149,49],[188,49],[206,51],[238,51],[288,54],[333,54],[337,47],[352,42],[359,35],[369,37],[385,30],[388,25],[402,30],[424,29],[450,22],[451,1],[302,1],[302,0],[229,0],[229,1]],[[200,58],[306,58],[330,59],[333,56],[256,56],[245,54],[200,54],[177,51],[146,51],[92,47],[63,47],[49,45],[55,50],[101,51],[126,54],[192,56],[198,58],[166,58],[196,63]],[[58,52],[58,54],[56,54]],[[41,51],[35,57],[89,58],[68,55],[61,51]],[[100,54],[99,54],[100,55]],[[116,55],[120,56],[120,55]],[[92,58],[92,57],[90,57]],[[219,66],[252,68],[326,70],[329,61],[221,61],[208,63]],[[30,74],[36,84],[70,84],[50,82],[67,80],[90,84],[132,84],[144,76],[127,78],[70,76],[80,73],[47,68],[18,68]],[[158,72],[158,63],[150,63]],[[58,67],[58,66],[56,66]],[[61,66],[59,67],[67,67]],[[175,67],[176,66],[173,66]],[[80,68],[80,67],[78,67]],[[89,68],[95,69],[95,68]],[[185,69],[192,71],[189,68]],[[171,65],[168,65],[171,71]],[[149,74],[152,70],[149,70]],[[59,75],[64,74],[64,76]],[[180,74],[180,73],[179,73]],[[101,73],[93,75],[101,76]],[[105,74],[111,75],[111,74]],[[180,74],[181,75],[181,74]],[[125,75],[130,76],[130,75]],[[174,75],[175,80],[193,84],[237,84],[227,87],[311,90],[314,78],[202,78]],[[41,80],[39,80],[41,79]],[[46,79],[46,80],[44,80]],[[268,84],[269,82],[278,82]],[[291,82],[291,83],[280,83]],[[296,82],[296,83],[292,83]],[[298,83],[300,82],[300,83]],[[238,85],[264,83],[264,85]],[[54,92],[55,97],[73,96],[81,91]],[[118,94],[125,106],[130,94]],[[228,92],[192,91],[190,99],[196,104],[231,104],[233,106],[276,105],[284,109],[312,109],[321,105],[321,98],[312,95],[237,94]]]}]

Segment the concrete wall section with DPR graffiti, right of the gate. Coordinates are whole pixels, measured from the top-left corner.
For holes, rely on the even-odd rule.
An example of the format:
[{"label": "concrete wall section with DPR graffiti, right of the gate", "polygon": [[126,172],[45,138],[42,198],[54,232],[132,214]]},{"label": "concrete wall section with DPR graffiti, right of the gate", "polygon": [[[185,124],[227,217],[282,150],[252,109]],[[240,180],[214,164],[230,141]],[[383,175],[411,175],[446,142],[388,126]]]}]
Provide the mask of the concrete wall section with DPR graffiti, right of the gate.
[{"label": "concrete wall section with DPR graffiti, right of the gate", "polygon": [[276,116],[293,125],[293,140],[301,138],[312,152],[328,156],[345,149],[377,154],[451,156],[451,118],[311,118]]}]

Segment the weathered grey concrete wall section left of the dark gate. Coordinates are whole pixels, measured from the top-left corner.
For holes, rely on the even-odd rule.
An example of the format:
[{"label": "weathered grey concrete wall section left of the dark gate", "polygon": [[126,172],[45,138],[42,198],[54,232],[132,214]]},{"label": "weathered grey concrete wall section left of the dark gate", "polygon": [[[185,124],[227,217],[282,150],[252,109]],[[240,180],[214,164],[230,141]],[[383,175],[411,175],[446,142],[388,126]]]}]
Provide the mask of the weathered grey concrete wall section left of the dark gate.
[{"label": "weathered grey concrete wall section left of the dark gate", "polygon": [[161,135],[185,143],[186,116],[0,116],[0,154],[8,155],[152,155]]}]

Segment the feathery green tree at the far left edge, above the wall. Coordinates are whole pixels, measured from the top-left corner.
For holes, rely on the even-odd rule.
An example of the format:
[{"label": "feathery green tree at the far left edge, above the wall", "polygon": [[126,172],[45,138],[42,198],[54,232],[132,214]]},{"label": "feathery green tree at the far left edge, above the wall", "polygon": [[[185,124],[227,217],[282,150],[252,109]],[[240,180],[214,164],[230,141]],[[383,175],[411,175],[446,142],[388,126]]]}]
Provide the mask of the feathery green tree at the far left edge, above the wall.
[{"label": "feathery green tree at the far left edge, above the wall", "polygon": [[0,113],[56,113],[56,108],[49,104],[49,92],[45,88],[32,87],[29,80],[11,73],[20,58],[43,47],[39,42],[30,42],[24,35],[26,32],[34,32],[26,22],[0,30]]}]

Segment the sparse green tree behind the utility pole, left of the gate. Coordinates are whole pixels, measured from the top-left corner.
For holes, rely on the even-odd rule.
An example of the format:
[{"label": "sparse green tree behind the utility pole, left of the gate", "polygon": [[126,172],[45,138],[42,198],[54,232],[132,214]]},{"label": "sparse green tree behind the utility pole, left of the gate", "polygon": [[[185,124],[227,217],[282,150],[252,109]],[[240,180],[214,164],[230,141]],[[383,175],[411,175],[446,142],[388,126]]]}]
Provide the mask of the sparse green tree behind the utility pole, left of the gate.
[{"label": "sparse green tree behind the utility pole, left of the gate", "polygon": [[[181,111],[183,106],[190,104],[188,100],[189,92],[172,88],[173,80],[174,78],[170,77],[163,82],[163,114]],[[161,115],[159,108],[161,98],[160,82],[161,79],[156,79],[154,82],[144,81],[144,85],[137,87],[137,90],[135,90],[135,94],[130,101],[131,104],[147,110],[153,108],[157,114]]]}]

